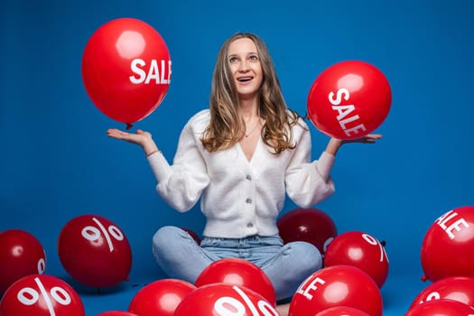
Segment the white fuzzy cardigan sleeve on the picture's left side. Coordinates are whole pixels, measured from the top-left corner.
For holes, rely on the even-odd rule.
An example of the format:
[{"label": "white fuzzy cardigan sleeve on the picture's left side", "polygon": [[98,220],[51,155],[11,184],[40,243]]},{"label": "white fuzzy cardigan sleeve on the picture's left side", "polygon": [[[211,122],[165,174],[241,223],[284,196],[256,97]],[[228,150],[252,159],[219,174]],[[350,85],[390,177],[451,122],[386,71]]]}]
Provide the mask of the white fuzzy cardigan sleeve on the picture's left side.
[{"label": "white fuzzy cardigan sleeve on the picture's left side", "polygon": [[199,149],[199,136],[193,131],[190,121],[181,131],[172,165],[161,152],[147,158],[157,181],[156,191],[180,212],[190,210],[209,185],[206,163]]}]

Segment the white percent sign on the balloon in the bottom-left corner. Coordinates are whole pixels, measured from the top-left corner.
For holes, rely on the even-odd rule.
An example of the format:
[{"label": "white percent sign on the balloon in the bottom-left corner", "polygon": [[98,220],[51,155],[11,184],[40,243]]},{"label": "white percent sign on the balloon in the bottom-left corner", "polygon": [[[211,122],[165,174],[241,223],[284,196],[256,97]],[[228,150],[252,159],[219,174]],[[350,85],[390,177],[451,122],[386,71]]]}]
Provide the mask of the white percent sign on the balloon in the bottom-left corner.
[{"label": "white percent sign on the balloon in the bottom-left corner", "polygon": [[[55,302],[58,302],[64,306],[70,304],[70,294],[60,286],[52,287],[50,293],[48,293],[42,284],[42,281],[38,277],[34,278],[34,282],[38,285],[40,293],[31,287],[24,287],[16,295],[19,302],[23,303],[24,305],[31,306],[40,300],[41,294],[44,302],[46,302],[46,306],[48,307],[48,311],[50,311],[51,316],[56,315],[54,308],[52,307],[53,304],[51,302],[51,298],[54,299]],[[51,294],[51,298],[49,294]]]}]

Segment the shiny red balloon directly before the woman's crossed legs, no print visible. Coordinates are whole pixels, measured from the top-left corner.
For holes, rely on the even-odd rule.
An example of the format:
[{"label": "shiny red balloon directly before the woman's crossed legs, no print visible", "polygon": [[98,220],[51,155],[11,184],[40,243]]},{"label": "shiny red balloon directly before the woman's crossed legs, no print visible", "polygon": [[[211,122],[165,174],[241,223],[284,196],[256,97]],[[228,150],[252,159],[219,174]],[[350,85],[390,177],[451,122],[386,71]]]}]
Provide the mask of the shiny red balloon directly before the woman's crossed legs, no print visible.
[{"label": "shiny red balloon directly before the woman's crossed legs, no print visible", "polygon": [[224,258],[208,265],[198,276],[196,286],[210,283],[230,283],[259,293],[276,306],[274,285],[257,265],[238,258]]}]

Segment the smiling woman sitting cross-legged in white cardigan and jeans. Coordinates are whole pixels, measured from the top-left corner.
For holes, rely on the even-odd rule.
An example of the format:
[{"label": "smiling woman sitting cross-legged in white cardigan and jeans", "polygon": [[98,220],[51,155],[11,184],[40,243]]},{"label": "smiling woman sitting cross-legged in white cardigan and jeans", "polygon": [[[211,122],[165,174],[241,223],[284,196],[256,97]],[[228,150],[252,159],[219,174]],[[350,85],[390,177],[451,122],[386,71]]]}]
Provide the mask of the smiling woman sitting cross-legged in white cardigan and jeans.
[{"label": "smiling woman sitting cross-legged in white cardigan and jeans", "polygon": [[[181,212],[200,200],[207,218],[198,246],[180,228],[160,228],[153,254],[163,271],[193,283],[211,262],[239,257],[260,266],[278,300],[321,268],[315,246],[283,246],[276,219],[285,194],[302,208],[334,192],[330,170],[341,144],[331,138],[311,161],[311,136],[302,117],[287,108],[274,64],[255,34],[237,33],[220,48],[213,73],[210,108],[184,126],[170,165],[152,135],[110,129],[111,137],[143,147],[156,190]],[[381,135],[356,140],[374,143]]]}]

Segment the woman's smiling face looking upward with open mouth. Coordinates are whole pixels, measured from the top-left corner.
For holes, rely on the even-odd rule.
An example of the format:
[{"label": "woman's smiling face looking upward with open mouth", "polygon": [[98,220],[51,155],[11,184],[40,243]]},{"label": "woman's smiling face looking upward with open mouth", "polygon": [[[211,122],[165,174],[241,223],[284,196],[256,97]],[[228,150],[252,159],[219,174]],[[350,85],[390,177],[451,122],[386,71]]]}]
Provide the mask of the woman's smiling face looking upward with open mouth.
[{"label": "woman's smiling face looking upward with open mouth", "polygon": [[256,44],[249,38],[231,42],[228,47],[228,64],[239,97],[256,97],[264,78]]}]

